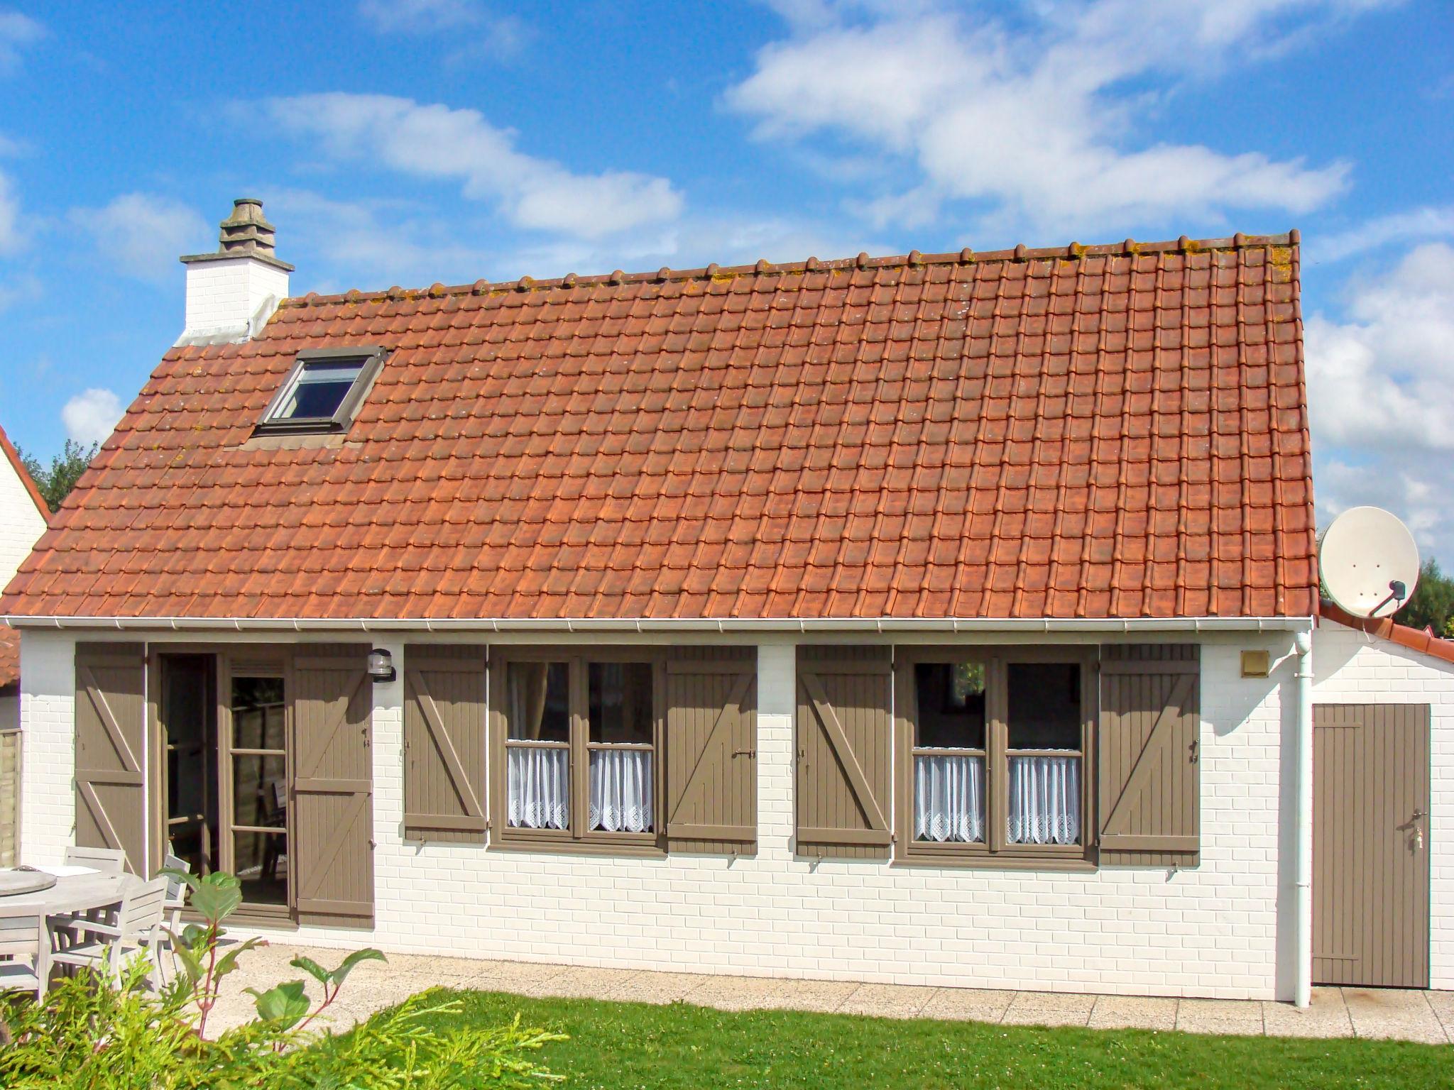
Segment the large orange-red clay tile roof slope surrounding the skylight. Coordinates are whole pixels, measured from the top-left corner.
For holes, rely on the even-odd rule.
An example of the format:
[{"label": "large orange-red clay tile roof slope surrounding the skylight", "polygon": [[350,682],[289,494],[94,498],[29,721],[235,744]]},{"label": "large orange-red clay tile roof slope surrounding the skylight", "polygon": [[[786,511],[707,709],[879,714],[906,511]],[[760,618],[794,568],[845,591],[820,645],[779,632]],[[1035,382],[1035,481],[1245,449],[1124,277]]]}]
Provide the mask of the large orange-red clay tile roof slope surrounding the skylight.
[{"label": "large orange-red clay tile roof slope surrounding the skylight", "polygon": [[[286,301],[173,349],[0,613],[1316,610],[1297,235]],[[253,426],[382,344],[348,442]]]}]

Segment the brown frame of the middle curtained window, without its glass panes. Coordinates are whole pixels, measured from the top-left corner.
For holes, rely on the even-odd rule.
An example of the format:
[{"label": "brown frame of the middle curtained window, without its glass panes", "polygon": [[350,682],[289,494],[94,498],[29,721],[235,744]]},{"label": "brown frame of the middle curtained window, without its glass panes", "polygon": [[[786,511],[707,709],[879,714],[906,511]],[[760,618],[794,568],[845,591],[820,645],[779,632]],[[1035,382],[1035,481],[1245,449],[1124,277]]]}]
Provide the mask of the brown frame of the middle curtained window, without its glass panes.
[{"label": "brown frame of the middle curtained window, without its glass panes", "polygon": [[[567,663],[570,692],[570,828],[516,828],[509,824],[509,721],[506,670],[509,663]],[[590,741],[589,664],[648,663],[651,666],[651,831],[611,833],[587,828],[590,810],[590,751],[611,746]],[[586,855],[666,853],[666,648],[643,647],[512,647],[490,655],[490,847],[555,850]]]}]

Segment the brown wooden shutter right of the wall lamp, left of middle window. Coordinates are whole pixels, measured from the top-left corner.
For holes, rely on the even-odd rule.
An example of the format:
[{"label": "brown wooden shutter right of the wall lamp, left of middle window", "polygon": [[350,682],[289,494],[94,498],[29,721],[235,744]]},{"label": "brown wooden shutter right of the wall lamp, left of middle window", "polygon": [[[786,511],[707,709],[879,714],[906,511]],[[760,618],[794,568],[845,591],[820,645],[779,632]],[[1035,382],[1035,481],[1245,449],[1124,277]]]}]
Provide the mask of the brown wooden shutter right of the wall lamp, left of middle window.
[{"label": "brown wooden shutter right of the wall lamp, left of middle window", "polygon": [[404,839],[484,840],[486,653],[404,648]]}]

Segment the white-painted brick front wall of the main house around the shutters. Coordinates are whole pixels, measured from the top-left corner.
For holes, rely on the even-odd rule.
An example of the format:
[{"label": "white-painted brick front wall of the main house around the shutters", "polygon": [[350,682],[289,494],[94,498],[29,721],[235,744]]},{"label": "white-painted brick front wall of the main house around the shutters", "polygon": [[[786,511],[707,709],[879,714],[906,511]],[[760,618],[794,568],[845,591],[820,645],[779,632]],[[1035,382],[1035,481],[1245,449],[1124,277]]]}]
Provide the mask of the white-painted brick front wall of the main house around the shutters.
[{"label": "white-painted brick front wall of the main house around the shutters", "polygon": [[[401,642],[382,645],[401,664]],[[1284,660],[1271,680],[1242,679],[1246,645],[1281,658],[1291,641],[1204,647],[1202,862],[1182,872],[795,859],[787,642],[759,650],[756,856],[608,859],[404,843],[403,685],[379,685],[375,929],[297,937],[768,977],[1288,998],[1290,977],[1284,985],[1278,971],[1288,958],[1278,949],[1278,769],[1291,738],[1282,709],[1293,706],[1293,670]],[[29,862],[55,862],[71,833],[71,654],[65,637],[26,637]]]}]

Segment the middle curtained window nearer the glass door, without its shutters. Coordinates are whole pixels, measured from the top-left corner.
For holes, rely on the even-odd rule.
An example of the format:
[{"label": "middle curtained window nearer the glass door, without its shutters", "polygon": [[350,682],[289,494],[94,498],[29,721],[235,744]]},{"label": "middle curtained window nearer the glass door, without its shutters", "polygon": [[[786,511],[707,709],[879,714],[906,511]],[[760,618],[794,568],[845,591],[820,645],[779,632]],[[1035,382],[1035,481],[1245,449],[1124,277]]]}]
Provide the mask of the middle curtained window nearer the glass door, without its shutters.
[{"label": "middle curtained window nearer the glass door, without its shutters", "polygon": [[510,653],[496,671],[503,843],[654,846],[660,655]]}]

